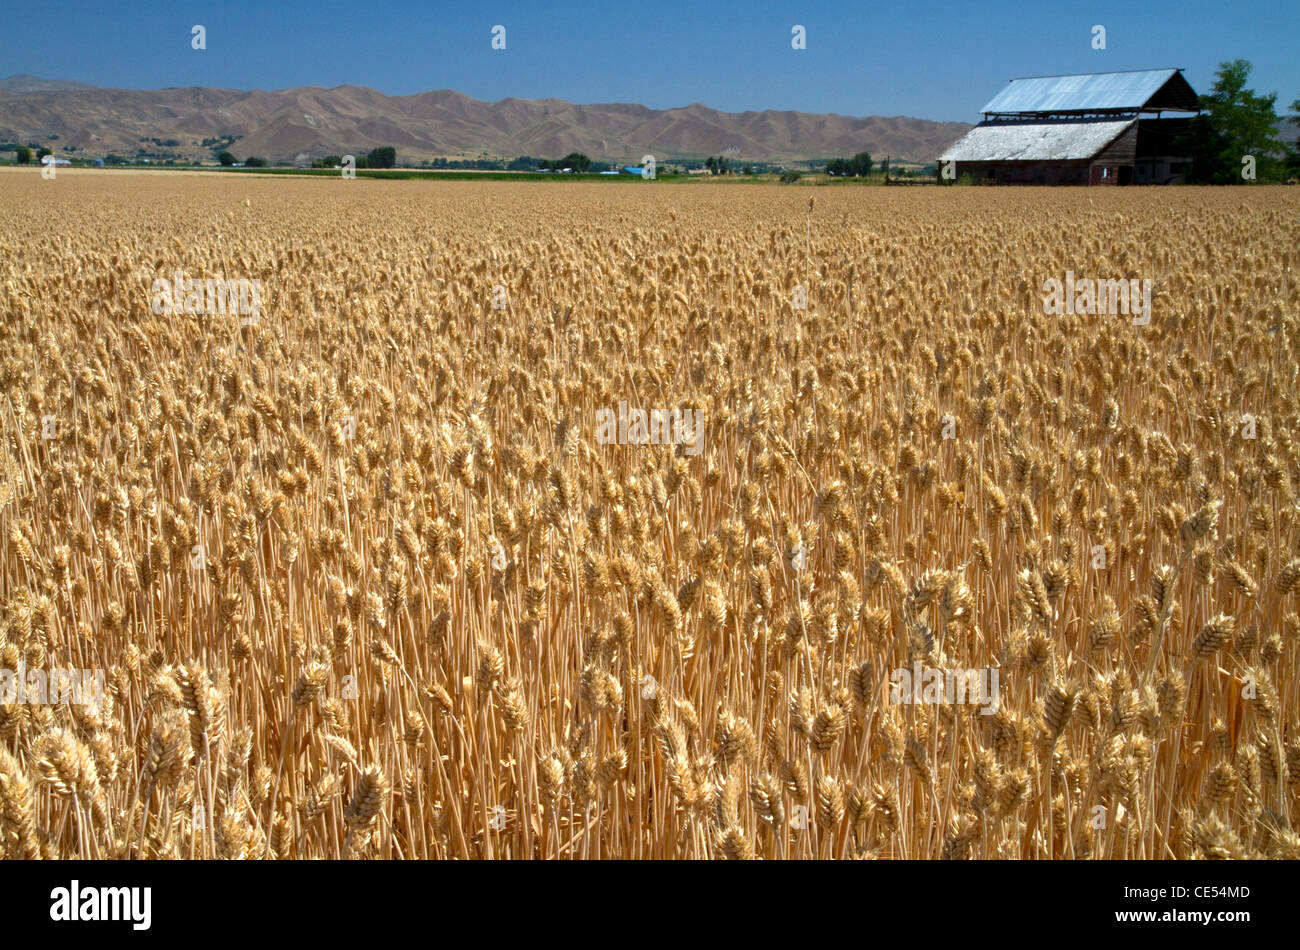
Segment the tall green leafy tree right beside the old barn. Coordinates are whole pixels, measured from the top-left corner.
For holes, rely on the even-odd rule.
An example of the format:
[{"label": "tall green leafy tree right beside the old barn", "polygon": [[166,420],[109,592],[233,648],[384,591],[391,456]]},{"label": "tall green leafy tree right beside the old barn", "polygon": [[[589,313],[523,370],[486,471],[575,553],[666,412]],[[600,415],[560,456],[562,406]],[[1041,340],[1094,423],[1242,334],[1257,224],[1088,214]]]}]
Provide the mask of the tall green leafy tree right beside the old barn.
[{"label": "tall green leafy tree right beside the old barn", "polygon": [[1243,159],[1254,159],[1256,181],[1282,177],[1277,139],[1278,94],[1257,95],[1245,81],[1251,75],[1248,60],[1221,62],[1218,78],[1208,95],[1200,97],[1201,114],[1191,121],[1187,135],[1175,140],[1175,148],[1192,159],[1187,179],[1196,183],[1238,185],[1248,168]]}]

